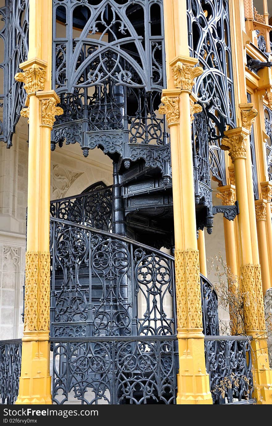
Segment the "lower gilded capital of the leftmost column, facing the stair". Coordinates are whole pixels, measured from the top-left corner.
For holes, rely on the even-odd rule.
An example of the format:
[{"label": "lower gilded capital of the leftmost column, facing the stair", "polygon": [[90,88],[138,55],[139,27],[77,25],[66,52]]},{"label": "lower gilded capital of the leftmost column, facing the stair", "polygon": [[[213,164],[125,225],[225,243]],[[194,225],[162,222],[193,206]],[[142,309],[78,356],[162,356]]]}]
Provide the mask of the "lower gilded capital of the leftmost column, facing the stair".
[{"label": "lower gilded capital of the leftmost column, facing the stair", "polygon": [[63,109],[57,107],[60,98],[54,90],[37,92],[36,95],[42,102],[42,125],[53,127],[55,116],[63,114]]}]

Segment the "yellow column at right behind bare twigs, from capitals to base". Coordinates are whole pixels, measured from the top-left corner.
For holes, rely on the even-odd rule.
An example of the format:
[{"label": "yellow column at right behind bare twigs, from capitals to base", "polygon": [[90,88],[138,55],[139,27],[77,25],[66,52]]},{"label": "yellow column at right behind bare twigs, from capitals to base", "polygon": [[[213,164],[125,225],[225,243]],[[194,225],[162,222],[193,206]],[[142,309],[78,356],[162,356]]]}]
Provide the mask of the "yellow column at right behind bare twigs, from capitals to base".
[{"label": "yellow column at right behind bare twigs, from capitals to base", "polygon": [[252,172],[249,171],[247,164],[250,158],[249,132],[257,111],[252,109],[252,104],[242,104],[240,109],[242,127],[226,131],[226,138],[222,139],[221,148],[229,150],[234,163],[236,196],[240,207],[238,229],[241,249],[241,286],[246,334],[253,337],[251,346],[254,396],[259,404],[271,404],[272,372],[269,369],[266,343],[257,228],[255,219],[252,220],[252,210],[255,210]]}]

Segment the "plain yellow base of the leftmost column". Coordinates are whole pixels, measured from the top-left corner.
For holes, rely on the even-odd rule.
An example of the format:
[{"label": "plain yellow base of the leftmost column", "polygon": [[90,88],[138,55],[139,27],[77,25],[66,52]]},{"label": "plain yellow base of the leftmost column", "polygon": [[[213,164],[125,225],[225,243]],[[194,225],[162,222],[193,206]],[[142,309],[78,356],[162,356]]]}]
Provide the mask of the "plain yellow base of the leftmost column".
[{"label": "plain yellow base of the leftmost column", "polygon": [[52,404],[49,363],[48,340],[23,341],[19,394],[15,404]]}]

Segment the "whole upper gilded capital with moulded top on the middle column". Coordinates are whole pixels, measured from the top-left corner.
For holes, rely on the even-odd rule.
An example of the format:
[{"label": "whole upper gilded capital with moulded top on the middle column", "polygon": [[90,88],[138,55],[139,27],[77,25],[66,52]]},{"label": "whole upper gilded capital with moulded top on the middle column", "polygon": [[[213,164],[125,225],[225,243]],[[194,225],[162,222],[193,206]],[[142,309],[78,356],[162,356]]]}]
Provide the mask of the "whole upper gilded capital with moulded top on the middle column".
[{"label": "whole upper gilded capital with moulded top on the middle column", "polygon": [[178,56],[172,62],[174,86],[188,93],[192,92],[195,84],[194,79],[203,73],[201,66],[195,66],[198,60],[186,56]]}]

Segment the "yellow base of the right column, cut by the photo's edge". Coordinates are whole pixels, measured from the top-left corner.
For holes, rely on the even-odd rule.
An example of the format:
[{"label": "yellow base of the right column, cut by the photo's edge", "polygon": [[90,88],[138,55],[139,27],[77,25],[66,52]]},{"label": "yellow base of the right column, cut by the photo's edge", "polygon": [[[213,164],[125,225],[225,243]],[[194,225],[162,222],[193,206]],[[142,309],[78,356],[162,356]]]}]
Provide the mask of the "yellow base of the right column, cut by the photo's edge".
[{"label": "yellow base of the right column, cut by the photo's edge", "polygon": [[272,370],[269,368],[266,339],[254,339],[252,348],[253,397],[257,404],[272,404]]}]

